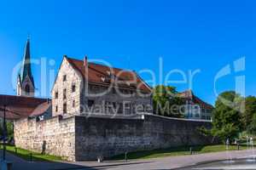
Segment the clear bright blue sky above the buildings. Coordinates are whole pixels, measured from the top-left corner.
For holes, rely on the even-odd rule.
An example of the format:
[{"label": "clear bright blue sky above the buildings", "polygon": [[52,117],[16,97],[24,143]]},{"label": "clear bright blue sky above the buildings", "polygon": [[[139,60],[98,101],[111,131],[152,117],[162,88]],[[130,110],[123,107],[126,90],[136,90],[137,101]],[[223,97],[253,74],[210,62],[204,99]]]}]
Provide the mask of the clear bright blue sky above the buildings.
[{"label": "clear bright blue sky above the buildings", "polygon": [[[246,71],[239,74],[246,75],[246,94],[256,95],[255,6],[253,0],[2,1],[0,94],[15,94],[13,69],[22,59],[29,33],[32,58],[55,59],[48,69],[57,70],[63,54],[78,59],[87,54],[136,71],[159,73],[160,57],[164,73],[200,69],[193,90],[212,104],[214,76],[245,56]],[[33,65],[32,71],[40,89],[40,68]],[[233,89],[235,76],[218,82],[218,92]],[[189,88],[175,86],[179,91]]]}]

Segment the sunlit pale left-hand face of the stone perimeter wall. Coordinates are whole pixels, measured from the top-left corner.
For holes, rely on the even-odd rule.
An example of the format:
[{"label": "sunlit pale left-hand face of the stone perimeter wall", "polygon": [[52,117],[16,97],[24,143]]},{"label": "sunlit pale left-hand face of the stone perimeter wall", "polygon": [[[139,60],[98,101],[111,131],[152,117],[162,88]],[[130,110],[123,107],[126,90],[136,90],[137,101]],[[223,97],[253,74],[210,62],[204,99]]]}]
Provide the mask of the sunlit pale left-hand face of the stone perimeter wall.
[{"label": "sunlit pale left-hand face of the stone perimeter wall", "polygon": [[15,145],[26,150],[75,160],[75,122],[61,116],[37,122],[36,118],[15,121]]}]

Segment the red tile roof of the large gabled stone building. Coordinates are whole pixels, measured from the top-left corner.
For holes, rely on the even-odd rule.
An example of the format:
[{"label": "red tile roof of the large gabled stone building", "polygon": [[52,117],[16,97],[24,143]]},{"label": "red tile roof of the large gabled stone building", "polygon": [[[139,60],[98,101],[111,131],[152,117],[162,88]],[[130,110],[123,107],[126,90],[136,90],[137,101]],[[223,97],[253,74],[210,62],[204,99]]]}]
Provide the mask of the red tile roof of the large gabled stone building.
[{"label": "red tile roof of the large gabled stone building", "polygon": [[[88,77],[89,82],[110,84],[110,75],[115,77],[120,88],[139,89],[146,93],[151,93],[152,90],[143,79],[137,75],[135,71],[125,71],[106,65],[96,63],[88,63],[88,74],[85,74],[84,61],[79,59],[67,58],[68,62],[73,65],[84,77]],[[109,80],[109,81],[108,81]]]}]

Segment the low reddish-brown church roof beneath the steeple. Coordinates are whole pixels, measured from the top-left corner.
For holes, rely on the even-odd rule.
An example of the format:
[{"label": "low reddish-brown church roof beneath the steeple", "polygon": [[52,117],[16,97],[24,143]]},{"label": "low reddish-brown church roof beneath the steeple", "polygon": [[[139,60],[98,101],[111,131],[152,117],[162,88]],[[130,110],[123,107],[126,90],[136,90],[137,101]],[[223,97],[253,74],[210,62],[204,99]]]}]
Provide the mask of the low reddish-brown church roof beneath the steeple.
[{"label": "low reddish-brown church roof beneath the steeple", "polygon": [[6,118],[19,119],[42,115],[49,109],[51,100],[0,94],[0,117],[3,117],[3,105],[6,105]]}]

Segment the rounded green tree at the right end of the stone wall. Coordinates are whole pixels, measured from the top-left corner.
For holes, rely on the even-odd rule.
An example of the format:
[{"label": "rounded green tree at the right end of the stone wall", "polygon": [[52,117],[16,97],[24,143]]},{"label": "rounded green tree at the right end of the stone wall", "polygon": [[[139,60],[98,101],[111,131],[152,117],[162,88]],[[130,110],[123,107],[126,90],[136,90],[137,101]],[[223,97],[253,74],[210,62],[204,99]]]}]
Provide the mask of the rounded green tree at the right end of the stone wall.
[{"label": "rounded green tree at the right end of the stone wall", "polygon": [[241,112],[244,99],[233,91],[218,96],[212,116],[212,135],[219,139],[235,139],[242,129]]}]

